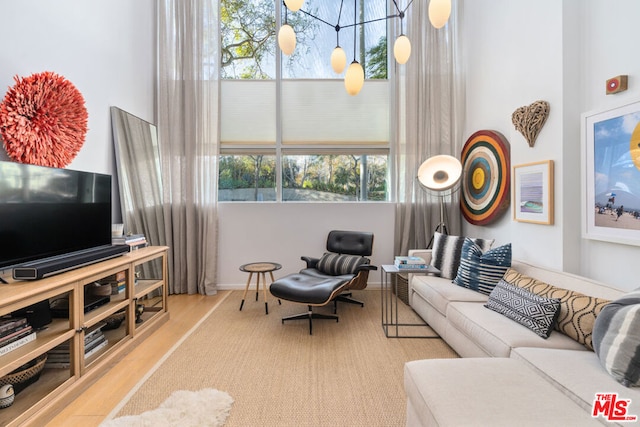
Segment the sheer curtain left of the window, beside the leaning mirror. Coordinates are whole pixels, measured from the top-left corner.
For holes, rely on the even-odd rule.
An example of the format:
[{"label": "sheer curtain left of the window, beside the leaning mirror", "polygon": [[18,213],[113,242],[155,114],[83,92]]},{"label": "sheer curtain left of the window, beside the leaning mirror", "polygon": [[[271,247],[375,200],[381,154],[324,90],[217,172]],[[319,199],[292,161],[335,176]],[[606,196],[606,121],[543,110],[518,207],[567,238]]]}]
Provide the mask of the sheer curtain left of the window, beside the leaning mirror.
[{"label": "sheer curtain left of the window, beside the leaning mirror", "polygon": [[216,293],[218,2],[158,4],[158,130],[171,293]]}]

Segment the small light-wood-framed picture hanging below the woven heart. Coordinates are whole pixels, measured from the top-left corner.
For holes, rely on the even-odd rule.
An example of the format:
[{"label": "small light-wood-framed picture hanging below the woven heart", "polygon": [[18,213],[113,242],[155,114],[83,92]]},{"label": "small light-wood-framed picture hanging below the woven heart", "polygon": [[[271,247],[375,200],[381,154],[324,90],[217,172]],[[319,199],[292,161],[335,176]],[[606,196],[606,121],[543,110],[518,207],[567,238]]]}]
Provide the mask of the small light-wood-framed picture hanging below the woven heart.
[{"label": "small light-wood-framed picture hanging below the woven heart", "polygon": [[553,224],[553,160],[513,167],[513,219]]}]

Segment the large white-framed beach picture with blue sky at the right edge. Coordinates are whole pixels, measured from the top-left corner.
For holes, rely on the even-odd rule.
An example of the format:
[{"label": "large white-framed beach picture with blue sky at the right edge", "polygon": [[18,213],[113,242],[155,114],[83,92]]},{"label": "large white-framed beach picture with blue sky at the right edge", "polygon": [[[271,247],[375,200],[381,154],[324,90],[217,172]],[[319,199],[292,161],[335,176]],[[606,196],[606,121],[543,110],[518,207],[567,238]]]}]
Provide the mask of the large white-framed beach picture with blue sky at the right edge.
[{"label": "large white-framed beach picture with blue sky at the right edge", "polygon": [[582,236],[640,245],[640,101],[582,115]]}]

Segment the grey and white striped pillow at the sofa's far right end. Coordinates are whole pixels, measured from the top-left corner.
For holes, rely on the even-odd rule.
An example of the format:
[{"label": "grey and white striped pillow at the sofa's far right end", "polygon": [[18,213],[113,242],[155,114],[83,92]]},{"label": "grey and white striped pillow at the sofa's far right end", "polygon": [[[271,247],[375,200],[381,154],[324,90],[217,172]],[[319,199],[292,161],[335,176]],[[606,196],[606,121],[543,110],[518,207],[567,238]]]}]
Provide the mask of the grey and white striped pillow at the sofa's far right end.
[{"label": "grey and white striped pillow at the sofa's far right end", "polygon": [[640,290],[602,309],[593,327],[593,347],[616,381],[625,387],[640,386]]}]

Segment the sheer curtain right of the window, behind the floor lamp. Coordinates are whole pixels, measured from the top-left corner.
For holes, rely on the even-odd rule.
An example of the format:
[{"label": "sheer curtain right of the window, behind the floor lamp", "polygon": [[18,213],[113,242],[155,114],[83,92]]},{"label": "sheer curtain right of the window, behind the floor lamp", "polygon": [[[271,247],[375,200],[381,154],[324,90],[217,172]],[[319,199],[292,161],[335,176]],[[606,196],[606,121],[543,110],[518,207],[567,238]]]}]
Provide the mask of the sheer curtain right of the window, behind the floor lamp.
[{"label": "sheer curtain right of the window, behind the floor lamp", "polygon": [[[429,22],[427,1],[414,1],[407,16],[411,58],[396,68],[394,100],[396,255],[425,248],[440,220],[438,197],[420,187],[418,167],[438,154],[459,159],[464,145],[464,80],[458,55],[460,4],[452,1],[451,17],[440,29]],[[462,225],[459,193],[445,205],[449,234],[459,233]]]}]

